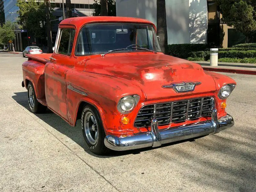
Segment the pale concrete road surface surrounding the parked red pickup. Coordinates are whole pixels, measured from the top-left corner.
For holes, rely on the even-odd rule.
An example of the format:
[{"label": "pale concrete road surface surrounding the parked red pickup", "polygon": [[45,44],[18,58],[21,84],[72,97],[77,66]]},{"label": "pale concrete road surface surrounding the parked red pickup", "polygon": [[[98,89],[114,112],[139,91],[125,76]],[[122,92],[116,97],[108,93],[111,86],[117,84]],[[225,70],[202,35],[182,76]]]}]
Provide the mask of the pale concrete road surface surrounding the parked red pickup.
[{"label": "pale concrete road surface surrounding the parked red pickup", "polygon": [[256,191],[256,76],[227,102],[235,126],[215,135],[97,156],[73,128],[29,111],[21,55],[0,53],[0,191]]}]

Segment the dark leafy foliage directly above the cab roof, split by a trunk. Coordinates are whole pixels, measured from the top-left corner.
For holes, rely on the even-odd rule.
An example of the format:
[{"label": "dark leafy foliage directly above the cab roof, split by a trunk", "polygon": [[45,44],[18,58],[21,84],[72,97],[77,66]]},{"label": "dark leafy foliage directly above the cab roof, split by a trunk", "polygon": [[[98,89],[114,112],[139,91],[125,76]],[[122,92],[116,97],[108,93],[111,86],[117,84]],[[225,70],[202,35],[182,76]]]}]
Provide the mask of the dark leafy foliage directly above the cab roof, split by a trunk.
[{"label": "dark leafy foliage directly above the cab roof, split by a trunk", "polygon": [[[106,1],[106,0],[105,0]],[[116,16],[116,1],[115,0],[107,0],[107,16]],[[101,0],[94,0],[94,13],[93,16],[106,16],[101,14]]]}]

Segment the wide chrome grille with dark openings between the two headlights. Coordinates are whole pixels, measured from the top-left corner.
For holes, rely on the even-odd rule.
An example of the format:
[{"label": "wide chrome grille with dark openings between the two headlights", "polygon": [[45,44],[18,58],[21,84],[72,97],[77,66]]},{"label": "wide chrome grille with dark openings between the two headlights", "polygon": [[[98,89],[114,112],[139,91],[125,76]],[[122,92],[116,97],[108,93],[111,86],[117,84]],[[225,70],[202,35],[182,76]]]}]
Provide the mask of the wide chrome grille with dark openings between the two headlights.
[{"label": "wide chrome grille with dark openings between the two headlights", "polygon": [[213,107],[213,97],[193,98],[189,100],[146,105],[140,109],[135,119],[134,126],[148,127],[153,117],[158,120],[158,125],[167,125],[211,116]]}]

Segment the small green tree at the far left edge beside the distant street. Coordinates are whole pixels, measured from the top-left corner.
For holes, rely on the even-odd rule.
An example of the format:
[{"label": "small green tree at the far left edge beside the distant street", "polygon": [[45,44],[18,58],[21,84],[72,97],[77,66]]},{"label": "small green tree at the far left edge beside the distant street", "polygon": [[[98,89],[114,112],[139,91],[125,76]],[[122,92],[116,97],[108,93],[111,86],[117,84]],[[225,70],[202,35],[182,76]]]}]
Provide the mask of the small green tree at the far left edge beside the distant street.
[{"label": "small green tree at the far left edge beside the distant street", "polygon": [[3,24],[3,27],[0,26],[0,44],[6,45],[10,40],[13,41],[15,39],[15,32],[18,28],[17,23],[12,23],[10,21],[6,21]]}]

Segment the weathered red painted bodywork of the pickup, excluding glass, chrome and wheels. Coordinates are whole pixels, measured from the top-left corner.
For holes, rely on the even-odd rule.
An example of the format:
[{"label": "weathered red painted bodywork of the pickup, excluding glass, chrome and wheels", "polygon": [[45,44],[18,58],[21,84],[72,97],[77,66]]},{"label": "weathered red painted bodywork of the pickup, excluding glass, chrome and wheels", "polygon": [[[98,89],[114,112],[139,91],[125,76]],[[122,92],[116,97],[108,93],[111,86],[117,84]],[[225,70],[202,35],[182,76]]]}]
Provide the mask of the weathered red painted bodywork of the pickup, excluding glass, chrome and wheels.
[{"label": "weathered red painted bodywork of the pickup, excluding glass, chrome and wheels", "polygon": [[[194,97],[213,96],[218,117],[226,115],[220,108],[217,96],[225,84],[236,82],[224,75],[205,72],[196,63],[164,55],[163,53],[129,52],[100,55],[75,56],[77,34],[82,26],[88,23],[129,22],[154,24],[138,18],[128,17],[76,17],[65,19],[60,28],[76,29],[73,50],[70,56],[60,54],[28,55],[29,61],[22,64],[23,78],[33,83],[37,98],[46,99],[48,107],[60,115],[71,126],[76,124],[78,107],[86,102],[99,111],[106,135],[132,135],[147,131],[146,128],[135,128],[134,120],[139,109],[147,104],[183,100]],[[53,57],[56,60],[49,60]],[[200,81],[195,90],[187,93],[176,93],[161,86],[180,81]],[[84,91],[88,96],[67,89],[67,85]],[[140,101],[130,113],[123,115],[117,110],[121,97],[137,94]],[[130,123],[123,125],[121,118],[126,116]],[[207,118],[208,119],[208,118]],[[159,129],[203,121],[200,118],[183,123],[160,126]]]}]

